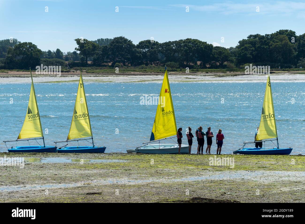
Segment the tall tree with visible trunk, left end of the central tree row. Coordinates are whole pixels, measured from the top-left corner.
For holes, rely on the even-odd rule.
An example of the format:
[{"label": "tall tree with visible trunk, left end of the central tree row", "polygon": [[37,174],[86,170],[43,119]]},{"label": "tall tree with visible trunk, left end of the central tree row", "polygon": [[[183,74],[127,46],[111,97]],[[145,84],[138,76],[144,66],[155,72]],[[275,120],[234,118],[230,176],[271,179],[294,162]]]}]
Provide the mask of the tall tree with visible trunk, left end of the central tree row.
[{"label": "tall tree with visible trunk, left end of the central tree row", "polygon": [[95,55],[96,51],[99,49],[99,45],[89,41],[87,39],[75,39],[76,44],[78,45],[75,48],[76,51],[80,52],[80,55],[85,58],[86,66],[88,65],[88,57]]}]

